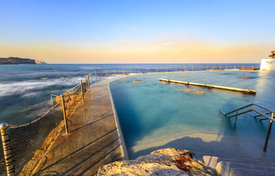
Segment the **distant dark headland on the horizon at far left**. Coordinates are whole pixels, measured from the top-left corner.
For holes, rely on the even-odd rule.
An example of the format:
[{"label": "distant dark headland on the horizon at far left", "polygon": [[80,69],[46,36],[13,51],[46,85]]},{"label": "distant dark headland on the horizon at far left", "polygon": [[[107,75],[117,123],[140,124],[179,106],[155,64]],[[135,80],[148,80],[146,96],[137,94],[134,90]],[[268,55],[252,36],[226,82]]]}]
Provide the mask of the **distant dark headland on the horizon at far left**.
[{"label": "distant dark headland on the horizon at far left", "polygon": [[31,58],[8,57],[0,58],[0,65],[17,65],[17,64],[47,64],[44,61],[39,61]]}]

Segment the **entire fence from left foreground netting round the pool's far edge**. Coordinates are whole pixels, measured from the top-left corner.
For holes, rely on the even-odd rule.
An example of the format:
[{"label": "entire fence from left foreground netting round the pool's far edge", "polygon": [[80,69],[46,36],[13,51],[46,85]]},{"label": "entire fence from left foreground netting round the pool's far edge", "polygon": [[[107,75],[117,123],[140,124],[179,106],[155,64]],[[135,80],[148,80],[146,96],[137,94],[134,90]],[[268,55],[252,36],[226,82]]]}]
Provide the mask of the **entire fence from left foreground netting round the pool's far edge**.
[{"label": "entire fence from left foreground netting round the pool's far edge", "polygon": [[[96,85],[98,79],[120,74],[150,74],[165,72],[208,72],[222,70],[255,70],[254,66],[161,66],[161,67],[128,67],[119,69],[96,69],[94,80]],[[101,72],[100,72],[101,71]],[[84,102],[85,91],[93,91],[93,74],[85,76],[85,81],[80,81],[72,89],[69,89],[61,96],[51,94],[52,109],[43,116],[28,124],[12,126],[1,124],[0,158],[2,171],[7,175],[26,175],[25,172],[36,166],[37,160],[45,153],[47,147],[54,137],[65,129],[69,133],[67,120],[77,107],[78,102]],[[62,124],[63,122],[63,124]],[[64,126],[64,127],[63,127]]]}]

